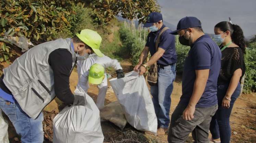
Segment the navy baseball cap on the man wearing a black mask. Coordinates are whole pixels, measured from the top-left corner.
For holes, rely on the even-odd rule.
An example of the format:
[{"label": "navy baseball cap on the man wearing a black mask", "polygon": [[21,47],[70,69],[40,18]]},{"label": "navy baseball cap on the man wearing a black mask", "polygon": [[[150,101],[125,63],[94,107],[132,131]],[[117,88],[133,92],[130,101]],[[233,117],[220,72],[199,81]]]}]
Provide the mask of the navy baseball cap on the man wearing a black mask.
[{"label": "navy baseball cap on the man wearing a black mask", "polygon": [[179,21],[177,25],[177,30],[172,31],[171,34],[177,35],[178,32],[182,29],[193,28],[193,27],[202,27],[201,21],[196,17],[184,17]]}]

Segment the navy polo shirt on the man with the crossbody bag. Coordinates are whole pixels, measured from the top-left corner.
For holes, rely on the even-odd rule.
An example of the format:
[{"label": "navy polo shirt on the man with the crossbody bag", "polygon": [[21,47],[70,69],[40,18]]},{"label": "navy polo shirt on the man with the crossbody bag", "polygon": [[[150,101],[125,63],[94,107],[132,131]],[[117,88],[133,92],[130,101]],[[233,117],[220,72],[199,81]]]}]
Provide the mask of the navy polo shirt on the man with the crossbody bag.
[{"label": "navy polo shirt on the man with the crossbody bag", "polygon": [[[163,25],[158,31],[150,32],[147,37],[147,43],[145,46],[149,47],[149,52],[151,56],[156,53],[156,39],[161,30],[166,27]],[[167,29],[160,36],[159,48],[165,50],[162,57],[157,61],[157,64],[170,65],[177,62],[177,55],[175,50],[175,36],[170,34],[172,32],[170,29]]]}]

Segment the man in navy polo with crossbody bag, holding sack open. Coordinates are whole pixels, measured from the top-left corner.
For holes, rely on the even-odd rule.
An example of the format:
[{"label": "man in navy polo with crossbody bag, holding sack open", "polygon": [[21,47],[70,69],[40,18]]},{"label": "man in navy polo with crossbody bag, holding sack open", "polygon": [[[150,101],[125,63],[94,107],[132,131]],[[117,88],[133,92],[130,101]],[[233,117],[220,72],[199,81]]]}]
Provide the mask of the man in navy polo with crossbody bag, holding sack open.
[{"label": "man in navy polo with crossbody bag, holding sack open", "polygon": [[[158,120],[158,136],[164,135],[170,124],[171,93],[176,76],[175,63],[177,61],[175,37],[170,34],[170,29],[167,29],[160,35],[158,50],[156,51],[156,39],[161,30],[166,27],[163,25],[162,20],[162,15],[158,12],[149,14],[148,21],[144,24],[144,27],[149,27],[151,32],[148,34],[147,43],[141,53],[139,63],[134,67],[135,71],[139,70],[139,74],[143,75],[147,67],[157,62],[158,81],[156,86],[150,87],[150,91],[153,96],[152,100]],[[151,54],[151,59],[142,65],[148,56],[148,52]]]}]

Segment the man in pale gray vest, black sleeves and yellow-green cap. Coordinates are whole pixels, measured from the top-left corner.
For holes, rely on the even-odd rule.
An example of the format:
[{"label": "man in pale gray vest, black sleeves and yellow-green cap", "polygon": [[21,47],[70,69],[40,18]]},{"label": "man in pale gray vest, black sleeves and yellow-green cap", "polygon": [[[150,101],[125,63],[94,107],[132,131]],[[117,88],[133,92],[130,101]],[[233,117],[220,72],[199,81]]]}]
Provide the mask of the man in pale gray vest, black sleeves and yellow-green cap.
[{"label": "man in pale gray vest, black sleeves and yellow-green cap", "polygon": [[55,96],[66,104],[85,105],[73,95],[69,77],[77,60],[103,54],[100,35],[89,29],[72,38],[39,44],[3,69],[0,78],[0,108],[13,123],[22,143],[42,143],[42,110]]}]

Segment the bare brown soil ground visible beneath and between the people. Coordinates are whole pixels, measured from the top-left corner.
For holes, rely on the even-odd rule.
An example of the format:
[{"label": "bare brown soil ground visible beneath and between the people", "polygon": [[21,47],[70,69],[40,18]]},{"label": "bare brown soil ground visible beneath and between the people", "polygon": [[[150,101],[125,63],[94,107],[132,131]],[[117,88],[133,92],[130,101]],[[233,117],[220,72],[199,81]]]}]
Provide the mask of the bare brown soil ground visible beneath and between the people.
[{"label": "bare brown soil ground visible beneath and between the people", "polygon": [[[124,72],[130,72],[132,70],[131,63],[129,61],[121,62]],[[7,63],[1,63],[2,67],[8,66]],[[113,77],[115,77],[115,72],[112,70],[107,71]],[[70,88],[74,91],[77,83],[77,73],[74,70],[70,77]],[[171,95],[171,112],[174,111],[176,105],[179,102],[181,92],[181,77],[177,77],[174,82],[174,89]],[[88,94],[94,99],[97,99],[98,89],[95,85],[90,85]],[[231,143],[256,143],[256,98],[255,93],[253,94],[242,94],[233,107],[231,114],[230,122],[232,128]],[[117,100],[114,93],[111,90],[108,90],[105,100],[105,105],[109,104],[112,101]],[[53,110],[44,111],[44,122],[43,127],[45,131],[45,143],[52,142],[52,120],[54,116],[61,110],[64,105],[57,99],[53,100],[57,104],[57,108],[52,108]],[[49,104],[50,106],[50,104]],[[54,106],[53,106],[54,107]],[[5,119],[8,120],[8,117],[5,116]],[[104,143],[139,143],[139,142],[148,142],[148,143],[167,143],[167,134],[162,137],[156,137],[150,133],[145,133],[138,131],[131,127],[129,124],[126,125],[123,131],[121,131],[117,126],[110,122],[101,122],[102,131],[104,134]],[[211,136],[211,135],[210,135]],[[9,121],[9,138],[11,143],[15,143],[19,136],[16,134],[15,129],[11,122]],[[15,138],[15,140],[14,140]],[[193,139],[190,135],[188,137],[187,143],[192,143]]]}]

